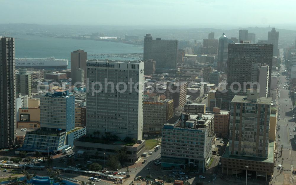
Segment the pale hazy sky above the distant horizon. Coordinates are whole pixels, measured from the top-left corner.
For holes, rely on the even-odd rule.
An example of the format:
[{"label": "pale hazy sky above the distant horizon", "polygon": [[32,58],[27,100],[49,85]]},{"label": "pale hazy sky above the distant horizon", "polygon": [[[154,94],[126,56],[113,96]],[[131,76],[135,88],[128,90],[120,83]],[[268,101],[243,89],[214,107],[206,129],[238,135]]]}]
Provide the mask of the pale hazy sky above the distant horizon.
[{"label": "pale hazy sky above the distant horizon", "polygon": [[215,27],[296,22],[295,0],[0,0],[0,6],[0,23]]}]

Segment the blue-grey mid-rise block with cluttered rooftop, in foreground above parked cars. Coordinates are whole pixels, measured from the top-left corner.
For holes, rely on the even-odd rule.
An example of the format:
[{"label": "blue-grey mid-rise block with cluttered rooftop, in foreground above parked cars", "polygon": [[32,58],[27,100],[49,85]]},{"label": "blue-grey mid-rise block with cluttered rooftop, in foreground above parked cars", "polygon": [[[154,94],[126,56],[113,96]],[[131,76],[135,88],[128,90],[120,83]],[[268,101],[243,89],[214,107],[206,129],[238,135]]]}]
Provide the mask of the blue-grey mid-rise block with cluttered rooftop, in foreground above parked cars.
[{"label": "blue-grey mid-rise block with cluttered rooftop, in foreground above parked cars", "polygon": [[191,167],[205,172],[213,143],[213,114],[181,114],[181,122],[162,129],[163,168]]}]

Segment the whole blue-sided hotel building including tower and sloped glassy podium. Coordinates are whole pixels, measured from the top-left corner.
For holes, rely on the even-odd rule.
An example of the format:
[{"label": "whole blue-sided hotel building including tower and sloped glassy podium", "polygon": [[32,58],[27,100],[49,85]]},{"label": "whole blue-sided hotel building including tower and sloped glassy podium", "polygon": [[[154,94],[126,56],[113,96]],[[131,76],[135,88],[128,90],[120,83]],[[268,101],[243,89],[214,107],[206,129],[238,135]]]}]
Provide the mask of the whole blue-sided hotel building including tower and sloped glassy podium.
[{"label": "whole blue-sided hotel building including tower and sloped glassy podium", "polygon": [[41,128],[27,132],[19,150],[57,153],[86,134],[84,127],[75,127],[75,97],[68,90],[41,97],[40,109]]}]

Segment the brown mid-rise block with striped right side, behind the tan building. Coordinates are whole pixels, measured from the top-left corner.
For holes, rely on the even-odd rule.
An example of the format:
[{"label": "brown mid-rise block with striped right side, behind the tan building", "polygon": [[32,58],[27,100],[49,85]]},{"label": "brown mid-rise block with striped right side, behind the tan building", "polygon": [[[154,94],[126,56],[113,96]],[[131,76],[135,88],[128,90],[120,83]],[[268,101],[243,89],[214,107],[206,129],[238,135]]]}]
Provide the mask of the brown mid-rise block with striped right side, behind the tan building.
[{"label": "brown mid-rise block with striped right side, behind the tan building", "polygon": [[174,100],[174,109],[182,108],[186,103],[187,83],[167,82],[166,98]]}]

